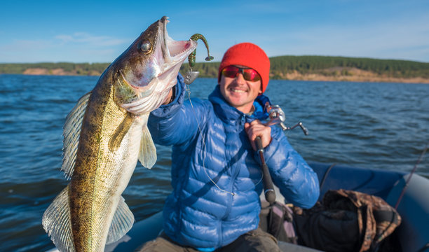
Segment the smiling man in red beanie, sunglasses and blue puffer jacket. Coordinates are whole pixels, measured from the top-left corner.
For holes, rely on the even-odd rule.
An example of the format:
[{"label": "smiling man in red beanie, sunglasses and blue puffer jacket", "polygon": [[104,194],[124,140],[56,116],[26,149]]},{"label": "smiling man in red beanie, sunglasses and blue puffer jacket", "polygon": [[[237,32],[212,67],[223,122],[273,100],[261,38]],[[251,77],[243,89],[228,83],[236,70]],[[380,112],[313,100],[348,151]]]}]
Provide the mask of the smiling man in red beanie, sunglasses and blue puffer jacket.
[{"label": "smiling man in red beanie, sunglasses and blue puffer jacket", "polygon": [[278,127],[266,127],[263,95],[270,62],[252,43],[233,45],[208,100],[184,101],[184,83],[151,113],[157,144],[172,145],[172,193],[163,209],[163,234],[142,251],[280,251],[258,229],[263,185],[254,139],[261,137],[273,182],[299,207],[313,207],[317,175]]}]

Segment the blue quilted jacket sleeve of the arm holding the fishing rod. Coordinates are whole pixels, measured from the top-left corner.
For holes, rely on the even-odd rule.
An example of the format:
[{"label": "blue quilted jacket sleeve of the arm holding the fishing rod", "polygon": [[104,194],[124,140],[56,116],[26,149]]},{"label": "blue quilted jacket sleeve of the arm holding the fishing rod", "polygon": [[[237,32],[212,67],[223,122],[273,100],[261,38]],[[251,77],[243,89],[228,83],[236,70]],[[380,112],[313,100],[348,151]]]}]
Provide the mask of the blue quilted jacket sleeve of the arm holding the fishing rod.
[{"label": "blue quilted jacket sleeve of the arm holding the fishing rod", "polygon": [[313,207],[320,193],[317,174],[290,146],[278,127],[272,130],[272,140],[264,150],[264,158],[273,183],[288,202],[306,209]]}]

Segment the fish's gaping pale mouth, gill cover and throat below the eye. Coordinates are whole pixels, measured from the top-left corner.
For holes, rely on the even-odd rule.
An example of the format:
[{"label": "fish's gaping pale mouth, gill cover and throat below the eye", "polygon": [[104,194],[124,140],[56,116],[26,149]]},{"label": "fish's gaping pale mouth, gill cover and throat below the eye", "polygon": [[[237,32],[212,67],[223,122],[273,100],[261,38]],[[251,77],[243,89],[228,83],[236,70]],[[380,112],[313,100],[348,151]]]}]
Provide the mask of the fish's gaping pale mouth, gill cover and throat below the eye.
[{"label": "fish's gaping pale mouth, gill cover and throat below the eye", "polygon": [[175,41],[170,38],[168,22],[168,18],[163,17],[154,23],[156,31],[149,33],[150,36],[156,36],[154,50],[144,57],[144,64],[137,64],[132,71],[118,71],[118,85],[122,86],[122,92],[117,93],[123,94],[118,102],[130,113],[147,113],[161,106],[170,89],[177,83],[180,66],[198,45],[192,39]]}]

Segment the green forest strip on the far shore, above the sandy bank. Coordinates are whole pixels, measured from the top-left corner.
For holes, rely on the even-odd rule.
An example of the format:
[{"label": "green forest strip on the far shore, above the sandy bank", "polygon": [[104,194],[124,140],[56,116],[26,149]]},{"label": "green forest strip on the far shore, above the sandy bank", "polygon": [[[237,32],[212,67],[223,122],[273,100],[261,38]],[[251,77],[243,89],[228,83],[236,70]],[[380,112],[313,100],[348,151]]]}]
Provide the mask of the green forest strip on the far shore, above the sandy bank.
[{"label": "green forest strip on the far shore, above the sandy bank", "polygon": [[[318,73],[329,75],[350,75],[350,69],[370,71],[380,76],[394,78],[429,78],[429,63],[397,59],[372,59],[357,57],[331,56],[278,56],[271,57],[271,78],[282,79],[287,73]],[[219,62],[196,63],[194,71],[200,72],[200,77],[217,78]],[[27,69],[63,69],[76,75],[101,74],[109,63],[13,63],[0,64],[0,73],[24,73]],[[185,62],[180,71],[186,73],[189,65]]]}]

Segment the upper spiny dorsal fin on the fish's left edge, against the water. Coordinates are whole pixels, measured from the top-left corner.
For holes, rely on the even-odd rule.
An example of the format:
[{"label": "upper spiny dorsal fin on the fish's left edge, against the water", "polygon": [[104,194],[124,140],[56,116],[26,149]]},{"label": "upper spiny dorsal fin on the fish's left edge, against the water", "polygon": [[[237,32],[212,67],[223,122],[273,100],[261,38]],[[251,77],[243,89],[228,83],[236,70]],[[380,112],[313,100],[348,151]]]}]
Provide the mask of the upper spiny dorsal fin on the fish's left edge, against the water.
[{"label": "upper spiny dorsal fin on the fish's left edge, against the water", "polygon": [[67,115],[66,122],[64,123],[64,131],[62,132],[64,141],[61,169],[66,174],[67,178],[70,178],[74,171],[83,116],[85,115],[90,96],[91,92],[88,92],[79,99],[74,108],[71,109],[69,115]]}]

